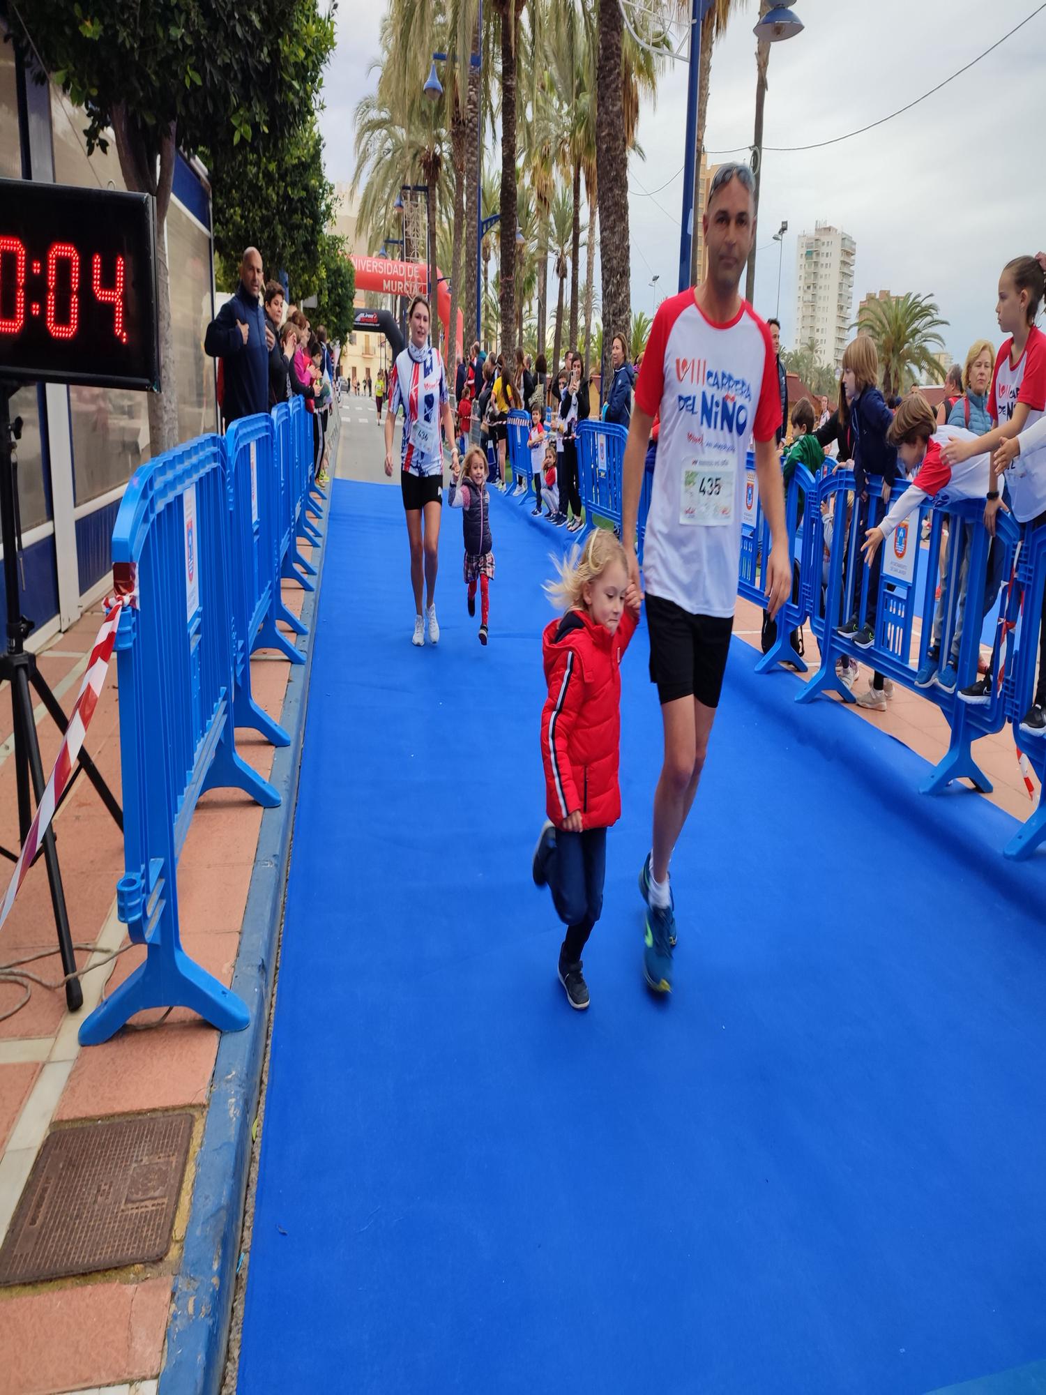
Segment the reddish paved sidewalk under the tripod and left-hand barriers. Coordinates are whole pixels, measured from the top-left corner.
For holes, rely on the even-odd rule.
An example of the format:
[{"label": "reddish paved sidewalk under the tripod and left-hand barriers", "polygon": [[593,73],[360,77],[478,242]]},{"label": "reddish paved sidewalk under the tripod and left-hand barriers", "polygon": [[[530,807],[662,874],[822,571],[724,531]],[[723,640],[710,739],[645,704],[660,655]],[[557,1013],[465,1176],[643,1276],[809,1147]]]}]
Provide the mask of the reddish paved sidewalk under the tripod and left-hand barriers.
[{"label": "reddish paved sidewalk under the tripod and left-hand barriers", "polygon": [[[310,550],[303,545],[304,555]],[[285,603],[297,614],[304,591],[287,582]],[[68,710],[85,657],[102,622],[95,607],[40,656],[40,670]],[[279,718],[290,665],[272,654],[251,660],[255,700]],[[10,702],[0,695],[0,844],[18,845]],[[50,770],[59,732],[38,725],[42,759]],[[120,797],[116,657],[88,731],[86,749]],[[240,755],[268,776],[273,749],[252,731],[237,732]],[[179,864],[179,910],[185,951],[230,983],[240,926],[254,869],[262,810],[238,791],[205,794],[192,817]],[[92,785],[81,776],[56,820],[57,848],[77,963],[127,943],[116,917],[114,890],[123,875],[123,838]],[[0,880],[6,879],[0,864]],[[0,965],[50,951],[28,965],[40,978],[61,976],[46,870],[26,877],[0,930]],[[7,1232],[36,1154],[52,1127],[85,1120],[188,1109],[192,1143],[180,1193],[172,1246],[158,1264],[0,1289],[0,1395],[56,1395],[105,1389],[109,1395],[153,1395],[163,1359],[173,1276],[192,1194],[208,1092],[219,1034],[185,1010],[152,1025],[160,1010],[142,1013],[132,1030],[81,1050],[77,1031],[86,1013],[144,957],[134,946],[84,979],[84,1010],[66,1011],[61,989],[32,986],[32,996],[0,1021],[0,1242]],[[24,997],[0,982],[0,1014]],[[146,1030],[135,1030],[146,1028]]]}]

